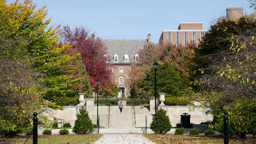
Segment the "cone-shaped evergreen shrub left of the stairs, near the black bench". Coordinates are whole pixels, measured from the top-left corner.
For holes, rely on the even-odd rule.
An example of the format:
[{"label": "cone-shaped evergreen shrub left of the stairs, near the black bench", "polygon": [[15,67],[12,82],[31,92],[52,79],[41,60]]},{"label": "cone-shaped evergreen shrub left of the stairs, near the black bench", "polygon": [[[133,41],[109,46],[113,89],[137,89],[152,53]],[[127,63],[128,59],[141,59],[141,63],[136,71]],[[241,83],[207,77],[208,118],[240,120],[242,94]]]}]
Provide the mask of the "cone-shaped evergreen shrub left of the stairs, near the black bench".
[{"label": "cone-shaped evergreen shrub left of the stairs, near the black bench", "polygon": [[84,107],[80,108],[79,113],[76,114],[73,132],[75,134],[89,134],[94,132],[92,120]]}]

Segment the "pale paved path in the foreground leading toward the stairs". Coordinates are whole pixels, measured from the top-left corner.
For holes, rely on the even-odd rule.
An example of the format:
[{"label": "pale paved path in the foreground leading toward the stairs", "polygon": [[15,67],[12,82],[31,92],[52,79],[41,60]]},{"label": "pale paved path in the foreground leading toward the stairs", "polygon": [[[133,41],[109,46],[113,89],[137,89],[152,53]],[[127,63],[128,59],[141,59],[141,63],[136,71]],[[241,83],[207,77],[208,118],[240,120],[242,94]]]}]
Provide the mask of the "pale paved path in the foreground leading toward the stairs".
[{"label": "pale paved path in the foreground leading toward the stairs", "polygon": [[142,134],[103,134],[94,144],[155,144]]}]

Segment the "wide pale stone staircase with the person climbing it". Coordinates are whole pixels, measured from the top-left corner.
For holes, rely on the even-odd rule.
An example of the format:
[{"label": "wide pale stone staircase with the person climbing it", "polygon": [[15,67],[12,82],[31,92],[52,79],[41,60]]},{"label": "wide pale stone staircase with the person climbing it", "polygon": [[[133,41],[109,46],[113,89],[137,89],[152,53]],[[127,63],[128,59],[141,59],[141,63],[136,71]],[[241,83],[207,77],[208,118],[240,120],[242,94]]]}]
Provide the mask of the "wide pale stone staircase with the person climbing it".
[{"label": "wide pale stone staircase with the person climbing it", "polygon": [[[105,128],[135,128],[145,127],[145,115],[147,115],[147,127],[152,122],[154,113],[150,113],[146,106],[123,106],[122,114],[119,106],[99,106],[99,124]],[[135,113],[134,113],[135,111]],[[97,122],[97,106],[89,113],[92,122]],[[136,120],[136,124],[135,124]]]}]

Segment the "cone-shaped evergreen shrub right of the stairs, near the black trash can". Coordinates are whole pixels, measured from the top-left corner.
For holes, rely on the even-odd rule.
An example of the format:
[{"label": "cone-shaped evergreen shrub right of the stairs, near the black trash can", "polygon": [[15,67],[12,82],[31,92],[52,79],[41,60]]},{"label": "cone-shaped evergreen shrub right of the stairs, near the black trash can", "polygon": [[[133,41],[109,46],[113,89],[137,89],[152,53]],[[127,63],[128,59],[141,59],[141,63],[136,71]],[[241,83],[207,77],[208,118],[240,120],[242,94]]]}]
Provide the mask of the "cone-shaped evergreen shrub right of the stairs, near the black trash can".
[{"label": "cone-shaped evergreen shrub right of the stairs, near the black trash can", "polygon": [[156,116],[153,117],[153,121],[150,124],[150,129],[156,134],[165,134],[170,131],[172,125],[170,123],[169,116],[166,115],[166,111],[160,109],[156,112]]}]

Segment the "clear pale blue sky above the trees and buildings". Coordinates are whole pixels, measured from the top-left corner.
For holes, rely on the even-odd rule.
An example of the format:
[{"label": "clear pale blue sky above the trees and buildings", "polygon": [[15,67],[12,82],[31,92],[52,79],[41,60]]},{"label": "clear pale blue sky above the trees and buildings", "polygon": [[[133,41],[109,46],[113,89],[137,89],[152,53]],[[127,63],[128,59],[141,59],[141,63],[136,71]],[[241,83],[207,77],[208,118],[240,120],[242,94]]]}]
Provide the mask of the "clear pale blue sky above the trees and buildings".
[{"label": "clear pale blue sky above the trees and buildings", "polygon": [[[9,0],[12,2],[14,0]],[[85,26],[102,39],[147,39],[157,43],[162,30],[175,30],[181,22],[211,22],[226,15],[226,8],[242,7],[246,0],[34,0],[46,6],[51,25]]]}]

